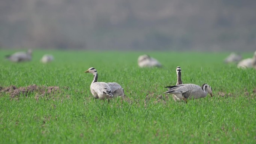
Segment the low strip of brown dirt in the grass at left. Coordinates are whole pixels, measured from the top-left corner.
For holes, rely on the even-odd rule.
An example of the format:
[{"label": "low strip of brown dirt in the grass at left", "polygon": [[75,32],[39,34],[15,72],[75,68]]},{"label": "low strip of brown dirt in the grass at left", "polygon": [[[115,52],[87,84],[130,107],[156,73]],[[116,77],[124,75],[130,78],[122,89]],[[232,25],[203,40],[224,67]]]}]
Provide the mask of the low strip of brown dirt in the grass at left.
[{"label": "low strip of brown dirt in the grass at left", "polygon": [[37,85],[30,85],[20,88],[11,85],[6,88],[0,88],[0,96],[3,94],[9,94],[10,98],[15,98],[20,95],[28,96],[33,93],[35,94],[35,98],[38,99],[40,96],[52,96],[55,94],[60,94],[60,88],[58,86],[47,87]]}]

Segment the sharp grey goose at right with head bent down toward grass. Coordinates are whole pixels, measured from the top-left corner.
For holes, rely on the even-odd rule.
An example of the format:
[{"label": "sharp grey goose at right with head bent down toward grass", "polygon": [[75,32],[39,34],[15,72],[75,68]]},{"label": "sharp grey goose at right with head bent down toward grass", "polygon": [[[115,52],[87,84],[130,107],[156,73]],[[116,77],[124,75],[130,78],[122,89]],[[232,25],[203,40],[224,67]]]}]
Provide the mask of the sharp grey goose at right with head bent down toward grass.
[{"label": "sharp grey goose at right with head bent down toward grass", "polygon": [[164,93],[175,94],[179,99],[197,99],[204,98],[207,93],[212,95],[211,86],[203,84],[202,87],[195,84],[182,84],[177,86],[167,86],[168,91]]}]

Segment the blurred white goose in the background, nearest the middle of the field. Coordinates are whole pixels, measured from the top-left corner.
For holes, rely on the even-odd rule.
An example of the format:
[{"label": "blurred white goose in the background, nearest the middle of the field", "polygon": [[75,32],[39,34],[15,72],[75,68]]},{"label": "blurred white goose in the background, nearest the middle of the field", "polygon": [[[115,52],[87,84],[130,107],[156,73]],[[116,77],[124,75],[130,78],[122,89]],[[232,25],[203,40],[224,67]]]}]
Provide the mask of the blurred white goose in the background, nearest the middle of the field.
[{"label": "blurred white goose in the background, nearest the middle of the field", "polygon": [[162,67],[162,64],[158,62],[155,58],[149,55],[141,55],[138,57],[139,67]]}]

